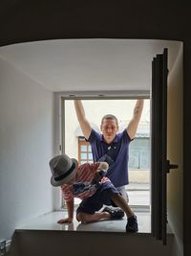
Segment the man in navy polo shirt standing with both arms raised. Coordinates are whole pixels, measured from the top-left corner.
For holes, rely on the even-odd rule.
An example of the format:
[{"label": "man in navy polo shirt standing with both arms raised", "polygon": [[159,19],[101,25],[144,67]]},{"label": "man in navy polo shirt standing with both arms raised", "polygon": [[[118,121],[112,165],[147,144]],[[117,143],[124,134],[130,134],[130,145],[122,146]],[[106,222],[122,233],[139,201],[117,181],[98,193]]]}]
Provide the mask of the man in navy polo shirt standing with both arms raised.
[{"label": "man in navy polo shirt standing with both arms raised", "polygon": [[125,185],[129,183],[129,144],[135,138],[143,109],[143,103],[144,101],[142,99],[137,101],[131,121],[127,125],[127,128],[120,133],[117,133],[117,117],[111,114],[103,116],[100,125],[102,134],[99,134],[91,127],[90,122],[87,120],[81,101],[74,100],[77,120],[84,137],[91,144],[94,161],[100,161],[100,159],[101,161],[104,161],[105,156],[111,159],[111,165],[107,172],[107,176],[127,202],[128,196],[125,191]]}]

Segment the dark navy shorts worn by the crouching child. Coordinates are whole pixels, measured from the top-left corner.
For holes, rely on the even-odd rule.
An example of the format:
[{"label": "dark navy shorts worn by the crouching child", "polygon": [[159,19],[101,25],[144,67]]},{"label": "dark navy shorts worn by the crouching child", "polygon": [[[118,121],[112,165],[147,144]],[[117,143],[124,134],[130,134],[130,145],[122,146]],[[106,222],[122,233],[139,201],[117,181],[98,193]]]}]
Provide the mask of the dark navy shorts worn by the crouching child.
[{"label": "dark navy shorts worn by the crouching child", "polygon": [[94,214],[102,208],[103,204],[117,206],[111,199],[111,197],[116,194],[120,194],[117,191],[117,188],[115,188],[111,181],[106,181],[105,183],[100,184],[92,197],[83,199],[80,202],[76,214],[81,212]]}]

